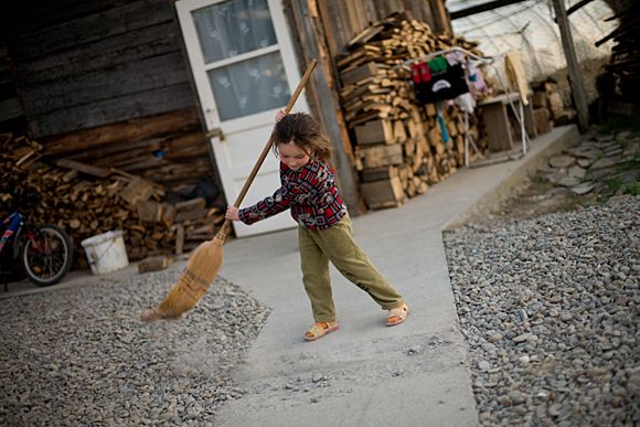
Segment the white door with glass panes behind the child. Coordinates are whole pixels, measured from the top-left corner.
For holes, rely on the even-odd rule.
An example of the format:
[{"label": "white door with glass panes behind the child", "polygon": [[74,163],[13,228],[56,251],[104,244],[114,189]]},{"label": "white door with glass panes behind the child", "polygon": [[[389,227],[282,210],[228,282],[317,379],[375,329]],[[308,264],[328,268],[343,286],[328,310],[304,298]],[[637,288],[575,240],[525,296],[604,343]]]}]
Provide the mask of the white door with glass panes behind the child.
[{"label": "white door with glass panes behind the child", "polygon": [[[179,0],[175,3],[200,104],[227,204],[233,204],[300,79],[281,0]],[[308,110],[302,96],[295,110]],[[280,186],[279,161],[269,154],[241,206]],[[289,212],[238,237],[295,226]]]}]

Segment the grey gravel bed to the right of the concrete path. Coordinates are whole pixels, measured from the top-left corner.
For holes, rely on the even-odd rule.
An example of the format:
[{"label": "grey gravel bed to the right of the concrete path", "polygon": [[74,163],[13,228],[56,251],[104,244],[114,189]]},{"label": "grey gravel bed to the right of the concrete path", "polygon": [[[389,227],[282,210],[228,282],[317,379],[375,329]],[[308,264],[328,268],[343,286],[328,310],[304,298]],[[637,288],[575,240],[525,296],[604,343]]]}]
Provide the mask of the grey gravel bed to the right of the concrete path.
[{"label": "grey gravel bed to the right of the concrete path", "polygon": [[640,424],[640,196],[445,233],[483,426]]}]

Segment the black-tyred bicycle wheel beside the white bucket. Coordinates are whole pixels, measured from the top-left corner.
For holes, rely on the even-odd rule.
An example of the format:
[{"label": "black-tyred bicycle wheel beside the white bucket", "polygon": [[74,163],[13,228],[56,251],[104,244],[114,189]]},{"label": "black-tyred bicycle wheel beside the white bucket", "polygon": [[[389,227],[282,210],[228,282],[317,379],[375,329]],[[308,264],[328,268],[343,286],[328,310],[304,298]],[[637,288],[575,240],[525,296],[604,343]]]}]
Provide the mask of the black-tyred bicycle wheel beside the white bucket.
[{"label": "black-tyred bicycle wheel beside the white bucket", "polygon": [[43,225],[25,233],[20,259],[24,274],[35,285],[50,286],[62,280],[72,257],[71,239],[62,228]]}]

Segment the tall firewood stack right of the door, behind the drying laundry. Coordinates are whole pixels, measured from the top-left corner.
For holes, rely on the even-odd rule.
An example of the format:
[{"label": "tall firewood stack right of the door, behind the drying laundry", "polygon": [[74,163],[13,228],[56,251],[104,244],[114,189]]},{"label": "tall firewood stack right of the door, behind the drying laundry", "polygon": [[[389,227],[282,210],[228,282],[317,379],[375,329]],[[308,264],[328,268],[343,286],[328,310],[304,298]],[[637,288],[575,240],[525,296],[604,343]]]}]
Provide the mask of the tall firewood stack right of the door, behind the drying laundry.
[{"label": "tall firewood stack right of the door, behind the drying laundry", "polygon": [[[395,13],[355,35],[338,58],[341,103],[354,134],[355,166],[370,209],[402,204],[465,164],[465,115],[444,105],[445,141],[435,104],[416,100],[403,62],[454,46],[480,54],[462,38],[436,35],[429,25]],[[477,118],[468,137],[479,145]]]}]

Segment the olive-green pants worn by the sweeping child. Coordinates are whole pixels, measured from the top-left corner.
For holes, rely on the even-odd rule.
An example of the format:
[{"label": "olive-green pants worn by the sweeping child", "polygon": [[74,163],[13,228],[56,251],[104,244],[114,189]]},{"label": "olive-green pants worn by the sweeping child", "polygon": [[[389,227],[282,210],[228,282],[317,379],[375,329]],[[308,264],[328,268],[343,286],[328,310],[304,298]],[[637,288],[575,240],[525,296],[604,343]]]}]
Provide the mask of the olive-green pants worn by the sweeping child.
[{"label": "olive-green pants worn by the sweeping child", "polygon": [[342,276],[369,293],[382,309],[391,310],[404,302],[403,297],[371,264],[353,239],[349,215],[327,229],[307,229],[299,226],[298,239],[302,282],[317,322],[335,320],[329,261]]}]

